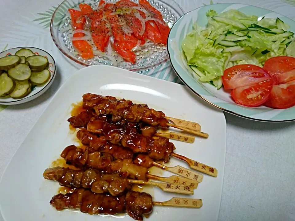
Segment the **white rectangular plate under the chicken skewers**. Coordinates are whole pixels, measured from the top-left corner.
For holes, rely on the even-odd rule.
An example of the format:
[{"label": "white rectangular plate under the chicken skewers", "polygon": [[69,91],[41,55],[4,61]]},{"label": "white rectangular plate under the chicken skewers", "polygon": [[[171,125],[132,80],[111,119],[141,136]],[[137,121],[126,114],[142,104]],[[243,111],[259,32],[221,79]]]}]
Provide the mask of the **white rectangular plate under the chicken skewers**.
[{"label": "white rectangular plate under the chicken skewers", "polygon": [[[74,143],[67,119],[70,117],[71,104],[81,101],[82,95],[87,92],[146,103],[167,116],[199,122],[202,131],[209,134],[208,139],[196,137],[193,144],[171,141],[176,146],[176,153],[215,167],[218,176],[204,175],[203,182],[193,196],[166,193],[157,187],[152,189],[152,195],[155,201],[165,201],[175,196],[198,198],[203,200],[203,207],[190,209],[156,206],[146,220],[218,219],[226,153],[226,121],[222,111],[200,101],[182,85],[98,65],[83,68],[66,81],[10,161],[0,181],[0,209],[6,221],[116,219],[70,210],[56,211],[49,200],[57,194],[59,185],[44,180],[42,176],[61,151]],[[171,158],[169,166],[175,165],[188,167],[184,162]],[[166,171],[161,174],[171,175]],[[132,220],[127,215],[121,216],[120,220],[122,219]]]}]

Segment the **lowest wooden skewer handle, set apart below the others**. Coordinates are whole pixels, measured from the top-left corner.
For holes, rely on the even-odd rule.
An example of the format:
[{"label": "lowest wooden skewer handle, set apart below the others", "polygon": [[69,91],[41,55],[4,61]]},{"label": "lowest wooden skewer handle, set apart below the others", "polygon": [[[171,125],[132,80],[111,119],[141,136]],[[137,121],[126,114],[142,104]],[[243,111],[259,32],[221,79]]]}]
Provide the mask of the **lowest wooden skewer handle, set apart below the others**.
[{"label": "lowest wooden skewer handle, set apart below the others", "polygon": [[201,199],[173,197],[171,200],[168,200],[165,202],[153,202],[153,205],[155,205],[155,206],[200,208],[203,206],[203,202]]}]

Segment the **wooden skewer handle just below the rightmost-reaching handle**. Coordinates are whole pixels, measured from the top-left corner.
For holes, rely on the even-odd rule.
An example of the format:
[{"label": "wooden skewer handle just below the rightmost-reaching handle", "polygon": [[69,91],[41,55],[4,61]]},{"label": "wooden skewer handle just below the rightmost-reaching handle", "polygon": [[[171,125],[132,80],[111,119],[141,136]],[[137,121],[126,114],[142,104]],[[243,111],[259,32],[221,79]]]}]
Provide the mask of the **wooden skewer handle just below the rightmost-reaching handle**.
[{"label": "wooden skewer handle just below the rightmost-reaching handle", "polygon": [[182,166],[167,167],[167,166],[164,166],[164,165],[156,163],[156,162],[153,162],[153,165],[156,166],[156,167],[159,167],[161,169],[167,170],[167,171],[169,171],[171,173],[175,173],[175,174],[177,174],[179,176],[183,176],[183,177],[185,177],[187,179],[197,181],[198,183],[202,182],[202,180],[203,180],[203,175],[202,174],[195,173],[194,171],[186,169],[186,168],[184,168]]}]

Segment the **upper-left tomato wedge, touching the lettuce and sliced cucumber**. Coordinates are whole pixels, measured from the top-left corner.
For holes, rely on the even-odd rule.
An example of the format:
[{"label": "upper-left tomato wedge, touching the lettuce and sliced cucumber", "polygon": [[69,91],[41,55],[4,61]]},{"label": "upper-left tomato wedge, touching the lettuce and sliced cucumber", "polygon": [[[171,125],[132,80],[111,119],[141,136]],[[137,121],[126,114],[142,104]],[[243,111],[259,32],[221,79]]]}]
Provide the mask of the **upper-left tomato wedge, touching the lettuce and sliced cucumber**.
[{"label": "upper-left tomato wedge, touching the lettuce and sliced cucumber", "polygon": [[269,79],[263,68],[252,64],[240,64],[224,70],[222,83],[225,89],[254,85]]}]

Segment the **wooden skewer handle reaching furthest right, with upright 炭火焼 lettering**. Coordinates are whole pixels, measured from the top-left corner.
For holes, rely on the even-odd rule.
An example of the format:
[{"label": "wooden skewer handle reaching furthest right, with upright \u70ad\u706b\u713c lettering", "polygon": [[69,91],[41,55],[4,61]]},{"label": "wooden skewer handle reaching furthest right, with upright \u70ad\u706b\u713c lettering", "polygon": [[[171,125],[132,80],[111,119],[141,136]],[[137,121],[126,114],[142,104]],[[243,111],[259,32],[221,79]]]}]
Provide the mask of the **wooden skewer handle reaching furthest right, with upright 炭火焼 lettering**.
[{"label": "wooden skewer handle reaching furthest right, with upright \u70ad\u706b\u713c lettering", "polygon": [[214,167],[210,167],[208,165],[199,163],[198,161],[191,160],[191,159],[189,159],[187,157],[184,157],[182,155],[179,155],[177,153],[171,153],[171,156],[176,157],[176,158],[178,158],[180,160],[183,160],[183,161],[187,162],[187,164],[192,169],[195,169],[195,170],[200,171],[202,173],[206,173],[206,174],[208,174],[210,176],[214,176],[214,177],[217,176],[218,171]]}]

